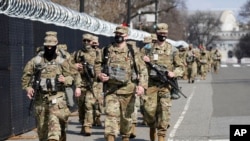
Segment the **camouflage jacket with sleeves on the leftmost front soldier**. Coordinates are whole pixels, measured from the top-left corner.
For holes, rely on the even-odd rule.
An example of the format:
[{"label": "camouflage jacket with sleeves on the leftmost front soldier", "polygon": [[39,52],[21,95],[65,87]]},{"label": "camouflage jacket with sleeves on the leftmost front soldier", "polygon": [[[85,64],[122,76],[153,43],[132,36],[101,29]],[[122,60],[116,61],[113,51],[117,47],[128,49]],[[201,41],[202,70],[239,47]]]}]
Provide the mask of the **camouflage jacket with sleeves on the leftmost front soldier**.
[{"label": "camouflage jacket with sleeves on the leftmost front soldier", "polygon": [[29,60],[24,67],[22,76],[23,89],[32,87],[34,74],[36,70],[39,69],[40,79],[54,79],[56,78],[56,75],[62,74],[65,77],[64,86],[71,86],[73,84],[73,80],[76,80],[76,87],[81,87],[81,79],[77,78],[75,74],[72,74],[72,71],[70,70],[70,64],[66,59],[57,54],[57,57],[55,59],[48,61],[40,52],[37,56]]}]

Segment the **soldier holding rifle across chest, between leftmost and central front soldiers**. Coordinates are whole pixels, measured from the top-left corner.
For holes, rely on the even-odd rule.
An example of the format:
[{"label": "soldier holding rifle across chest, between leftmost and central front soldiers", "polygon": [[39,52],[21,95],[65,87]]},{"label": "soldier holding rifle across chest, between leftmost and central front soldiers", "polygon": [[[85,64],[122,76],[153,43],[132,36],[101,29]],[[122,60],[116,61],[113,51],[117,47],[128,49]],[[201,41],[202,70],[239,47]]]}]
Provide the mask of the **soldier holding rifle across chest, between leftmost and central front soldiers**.
[{"label": "soldier holding rifle across chest, between leftmost and central front soldiers", "polygon": [[91,135],[91,127],[94,124],[94,107],[96,104],[96,94],[94,85],[94,64],[98,53],[92,47],[93,35],[83,34],[83,46],[72,54],[72,63],[75,64],[82,78],[82,95],[78,99],[79,121],[82,124],[81,133],[85,136]]}]

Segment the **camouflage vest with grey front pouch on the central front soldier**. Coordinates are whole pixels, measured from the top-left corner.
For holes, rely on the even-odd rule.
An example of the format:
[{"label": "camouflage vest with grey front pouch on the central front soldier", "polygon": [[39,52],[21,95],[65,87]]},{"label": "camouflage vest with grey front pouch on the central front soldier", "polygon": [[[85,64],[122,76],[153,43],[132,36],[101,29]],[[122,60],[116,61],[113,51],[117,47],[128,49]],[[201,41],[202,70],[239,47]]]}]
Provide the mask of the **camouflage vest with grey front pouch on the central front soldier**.
[{"label": "camouflage vest with grey front pouch on the central front soldier", "polygon": [[134,50],[131,45],[127,44],[127,49],[124,48],[124,51],[117,51],[114,46],[104,49],[103,62],[108,67],[109,84],[125,85],[137,79],[138,70]]}]

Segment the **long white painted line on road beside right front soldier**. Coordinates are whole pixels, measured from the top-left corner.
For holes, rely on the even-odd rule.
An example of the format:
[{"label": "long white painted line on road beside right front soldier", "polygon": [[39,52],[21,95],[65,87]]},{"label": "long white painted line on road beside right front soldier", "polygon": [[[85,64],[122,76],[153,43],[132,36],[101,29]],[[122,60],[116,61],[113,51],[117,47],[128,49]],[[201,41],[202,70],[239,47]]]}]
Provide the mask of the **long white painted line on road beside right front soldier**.
[{"label": "long white painted line on road beside right front soldier", "polygon": [[169,139],[168,141],[173,141],[173,138],[175,137],[175,134],[176,134],[176,131],[178,130],[178,128],[180,127],[181,125],[181,122],[183,121],[184,117],[185,117],[185,114],[189,108],[189,105],[190,105],[190,102],[191,102],[191,99],[193,98],[194,96],[194,93],[195,93],[195,89],[196,89],[196,86],[193,88],[192,90],[192,93],[191,95],[189,96],[188,100],[187,100],[187,103],[180,115],[180,117],[178,118],[177,122],[175,123],[173,129],[171,130],[170,134],[169,134]]}]

